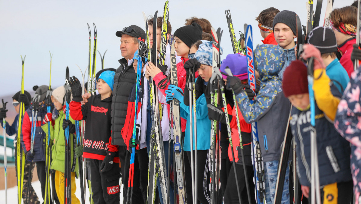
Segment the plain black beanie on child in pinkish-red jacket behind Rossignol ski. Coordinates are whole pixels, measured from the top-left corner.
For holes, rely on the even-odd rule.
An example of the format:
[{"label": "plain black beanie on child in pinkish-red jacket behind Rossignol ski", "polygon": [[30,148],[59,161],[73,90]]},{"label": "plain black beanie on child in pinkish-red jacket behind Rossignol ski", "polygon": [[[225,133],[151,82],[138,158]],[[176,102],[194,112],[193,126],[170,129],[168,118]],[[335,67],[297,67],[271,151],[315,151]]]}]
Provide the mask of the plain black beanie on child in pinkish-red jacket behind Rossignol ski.
[{"label": "plain black beanie on child in pinkish-red jacket behind Rossignol ski", "polygon": [[191,47],[193,43],[202,39],[202,27],[198,23],[192,23],[192,25],[187,25],[180,27],[174,32],[174,36],[177,36],[183,41],[188,47]]}]

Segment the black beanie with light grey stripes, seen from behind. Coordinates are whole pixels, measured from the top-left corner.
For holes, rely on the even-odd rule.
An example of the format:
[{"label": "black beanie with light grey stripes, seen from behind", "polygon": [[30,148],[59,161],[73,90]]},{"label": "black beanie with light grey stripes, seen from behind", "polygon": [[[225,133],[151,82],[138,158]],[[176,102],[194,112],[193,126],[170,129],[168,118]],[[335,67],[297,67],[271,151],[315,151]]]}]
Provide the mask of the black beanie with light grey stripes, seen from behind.
[{"label": "black beanie with light grey stripes, seen from behind", "polygon": [[336,36],[329,27],[316,27],[308,35],[308,43],[314,45],[321,54],[337,52]]}]

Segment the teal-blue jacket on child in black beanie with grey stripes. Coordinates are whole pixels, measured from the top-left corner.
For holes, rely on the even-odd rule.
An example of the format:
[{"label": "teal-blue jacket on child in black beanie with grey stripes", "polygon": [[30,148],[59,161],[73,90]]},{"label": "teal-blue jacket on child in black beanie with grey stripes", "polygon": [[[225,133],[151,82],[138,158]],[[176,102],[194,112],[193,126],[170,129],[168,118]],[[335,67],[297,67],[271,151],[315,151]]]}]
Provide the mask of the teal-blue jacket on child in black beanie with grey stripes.
[{"label": "teal-blue jacket on child in black beanie with grey stripes", "polygon": [[338,58],[336,58],[329,64],[329,66],[326,67],[326,74],[338,88],[340,93],[343,93],[348,82],[350,81],[350,78],[348,77],[347,71],[343,68]]}]

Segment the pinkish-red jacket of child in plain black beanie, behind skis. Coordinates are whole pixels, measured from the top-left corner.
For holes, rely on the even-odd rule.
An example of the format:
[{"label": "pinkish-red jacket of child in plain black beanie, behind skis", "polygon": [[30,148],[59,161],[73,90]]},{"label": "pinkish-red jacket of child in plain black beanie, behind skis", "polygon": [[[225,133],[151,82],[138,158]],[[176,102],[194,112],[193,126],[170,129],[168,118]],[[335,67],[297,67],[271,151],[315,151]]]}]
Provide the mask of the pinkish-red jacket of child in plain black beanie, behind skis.
[{"label": "pinkish-red jacket of child in plain black beanie, behind skis", "polygon": [[[177,79],[178,79],[178,87],[182,89],[182,91],[184,92],[184,88],[186,87],[186,70],[184,69],[184,63],[186,63],[186,61],[188,61],[189,59],[186,59],[184,57],[181,58],[182,62],[179,62],[177,64]],[[156,84],[158,84],[162,79],[166,78],[167,76],[164,75],[163,73],[158,73],[157,75],[155,75],[155,77],[153,78],[153,80],[156,82]],[[168,86],[170,85],[170,83],[168,82],[168,84],[166,85],[166,87],[164,89],[159,88],[159,90],[162,92],[163,95],[166,96],[165,91],[168,89]],[[169,105],[167,105],[168,107],[168,113],[169,113]],[[187,120],[184,118],[181,118],[181,127],[182,127],[182,132],[186,131],[186,122]]]}]

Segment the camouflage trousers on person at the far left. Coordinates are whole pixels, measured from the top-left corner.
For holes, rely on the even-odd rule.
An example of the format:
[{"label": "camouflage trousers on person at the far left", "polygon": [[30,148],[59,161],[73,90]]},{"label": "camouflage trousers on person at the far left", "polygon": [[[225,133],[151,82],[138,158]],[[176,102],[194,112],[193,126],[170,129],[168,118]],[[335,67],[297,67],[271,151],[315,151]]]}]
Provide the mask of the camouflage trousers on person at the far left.
[{"label": "camouflage trousers on person at the far left", "polygon": [[[20,159],[20,164],[21,164],[21,159]],[[34,191],[34,188],[31,185],[32,181],[29,182],[30,165],[31,165],[31,175],[32,175],[32,173],[34,172],[34,168],[35,168],[35,162],[29,162],[29,161],[25,160],[22,198],[23,198],[24,203],[40,204],[39,198],[36,195],[36,192]],[[15,168],[16,168],[16,172],[17,172],[17,158],[16,157],[15,157]],[[29,195],[28,195],[28,191],[29,191]]]}]

